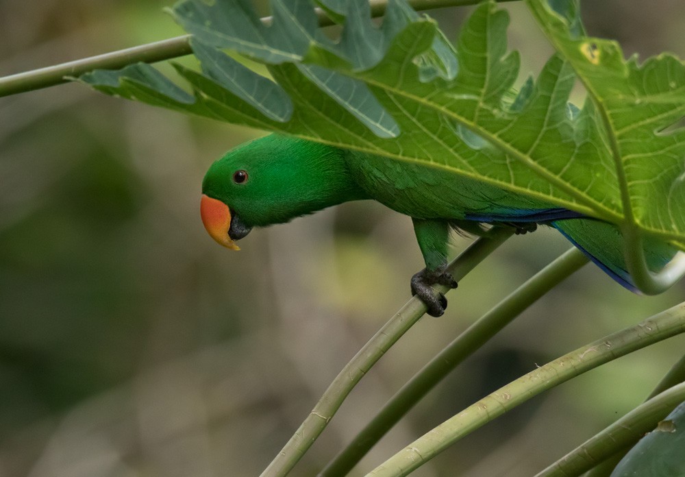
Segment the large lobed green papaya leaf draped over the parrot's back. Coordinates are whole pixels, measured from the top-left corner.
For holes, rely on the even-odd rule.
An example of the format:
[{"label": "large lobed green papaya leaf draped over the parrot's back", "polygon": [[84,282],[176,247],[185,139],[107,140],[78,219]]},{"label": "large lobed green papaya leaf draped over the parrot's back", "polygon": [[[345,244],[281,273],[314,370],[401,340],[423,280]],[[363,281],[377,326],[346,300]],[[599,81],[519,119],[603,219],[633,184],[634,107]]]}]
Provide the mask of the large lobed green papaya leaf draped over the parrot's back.
[{"label": "large lobed green papaya leaf draped over the parrot's back", "polygon": [[[674,56],[623,60],[614,42],[585,36],[577,0],[527,0],[558,52],[517,86],[508,14],[492,1],[471,14],[456,47],[404,0],[388,1],[380,26],[365,0],[316,3],[343,25],[337,42],[316,27],[306,0],[272,1],[268,26],[247,0],[177,3],[173,15],[195,36],[202,67],[177,66],[192,102],[179,101],[180,88],[140,79],[153,74],[140,65],[81,79],[108,94],[445,169],[685,241],[685,131],[673,127],[685,113],[685,66]],[[263,63],[273,82],[237,68],[221,49]],[[578,78],[588,98],[575,106]]]}]

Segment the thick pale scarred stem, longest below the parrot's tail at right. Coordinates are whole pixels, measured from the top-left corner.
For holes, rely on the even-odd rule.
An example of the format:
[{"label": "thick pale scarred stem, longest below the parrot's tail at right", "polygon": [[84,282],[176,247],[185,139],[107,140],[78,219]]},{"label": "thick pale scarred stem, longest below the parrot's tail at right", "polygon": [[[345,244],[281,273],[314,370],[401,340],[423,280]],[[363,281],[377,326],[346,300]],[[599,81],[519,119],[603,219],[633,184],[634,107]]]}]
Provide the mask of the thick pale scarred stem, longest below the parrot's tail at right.
[{"label": "thick pale scarred stem, longest below the parrot's tail at right", "polygon": [[473,430],[575,376],[685,332],[685,304],[581,347],[507,384],[451,417],[379,465],[367,477],[406,476]]}]

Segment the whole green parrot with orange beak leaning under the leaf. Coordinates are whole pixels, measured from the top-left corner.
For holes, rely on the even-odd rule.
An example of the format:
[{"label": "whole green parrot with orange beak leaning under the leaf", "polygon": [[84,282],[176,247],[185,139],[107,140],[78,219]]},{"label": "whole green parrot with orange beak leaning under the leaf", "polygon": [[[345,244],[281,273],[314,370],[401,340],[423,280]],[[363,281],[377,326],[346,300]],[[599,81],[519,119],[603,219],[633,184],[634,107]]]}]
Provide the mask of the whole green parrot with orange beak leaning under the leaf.
[{"label": "whole green parrot with orange beak leaning under the leaf", "polygon": [[[288,222],[346,201],[374,199],[408,215],[425,261],[425,269],[410,280],[412,294],[436,317],[445,312],[447,300],[432,285],[457,286],[445,271],[451,230],[478,234],[483,224],[513,226],[519,233],[550,225],[614,280],[637,291],[623,258],[623,238],[614,225],[429,164],[271,134],[214,162],[202,194],[206,230],[236,250],[236,241],[254,227]],[[662,241],[645,241],[647,265],[654,271],[675,252]]]}]

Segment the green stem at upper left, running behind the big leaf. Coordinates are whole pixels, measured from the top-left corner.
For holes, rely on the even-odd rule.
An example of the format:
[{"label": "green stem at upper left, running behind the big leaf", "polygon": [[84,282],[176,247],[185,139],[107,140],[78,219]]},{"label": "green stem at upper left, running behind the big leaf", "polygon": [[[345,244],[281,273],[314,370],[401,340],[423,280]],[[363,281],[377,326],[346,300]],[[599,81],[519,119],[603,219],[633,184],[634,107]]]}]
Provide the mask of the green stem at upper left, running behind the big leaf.
[{"label": "green stem at upper left, running behind the big leaf", "polygon": [[[479,0],[409,0],[410,5],[415,10],[431,10],[433,8],[445,8],[461,5],[474,5]],[[512,0],[499,0],[512,1]],[[388,0],[371,0],[371,15],[374,17],[382,16],[386,10]],[[320,10],[316,9],[319,16],[319,25],[333,25],[331,19]],[[262,19],[262,22],[271,23],[271,17]],[[179,56],[186,56],[192,53],[188,39],[190,35],[177,36],[158,42],[139,45],[119,51],[112,51],[103,55],[82,58],[81,60],[70,61],[55,66],[16,73],[0,77],[0,97],[25,93],[27,91],[48,88],[58,84],[66,83],[73,77],[78,77],[94,69],[120,69],[127,64],[145,62],[155,63],[164,60],[171,60]]]}]

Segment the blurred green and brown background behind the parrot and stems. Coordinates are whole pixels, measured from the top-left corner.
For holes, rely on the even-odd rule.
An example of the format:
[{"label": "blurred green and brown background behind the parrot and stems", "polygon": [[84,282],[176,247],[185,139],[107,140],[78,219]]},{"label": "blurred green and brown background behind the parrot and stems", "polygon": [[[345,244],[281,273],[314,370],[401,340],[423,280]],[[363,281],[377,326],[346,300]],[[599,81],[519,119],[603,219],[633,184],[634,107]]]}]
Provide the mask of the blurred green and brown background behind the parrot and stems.
[{"label": "blurred green and brown background behind the parrot and stems", "polygon": [[[0,75],[182,34],[166,1],[0,0]],[[510,3],[523,74],[550,50]],[[436,10],[451,38],[469,9]],[[627,53],[685,56],[680,0],[586,2]],[[0,99],[0,476],[251,476],[338,370],[408,299],[410,220],[345,204],[229,252],[199,221],[204,171],[258,131],[79,84]],[[456,238],[455,253],[466,245]],[[313,475],[412,374],[569,243],[512,238],[368,375],[295,475]],[[685,297],[588,266],[433,391],[363,469],[536,365]],[[417,476],[529,476],[642,400],[677,337],[488,424]]]}]

